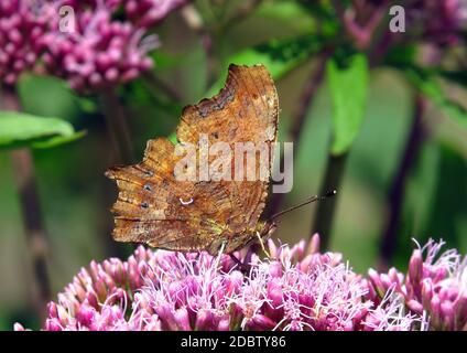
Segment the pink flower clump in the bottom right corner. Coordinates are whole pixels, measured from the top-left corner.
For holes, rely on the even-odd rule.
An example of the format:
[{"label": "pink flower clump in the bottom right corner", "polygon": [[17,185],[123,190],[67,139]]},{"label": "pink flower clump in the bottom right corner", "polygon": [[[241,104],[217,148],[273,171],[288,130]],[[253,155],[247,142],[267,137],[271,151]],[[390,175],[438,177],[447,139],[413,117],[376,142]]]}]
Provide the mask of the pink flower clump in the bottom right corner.
[{"label": "pink flower clump in the bottom right corner", "polygon": [[441,253],[444,242],[430,240],[412,253],[406,275],[369,270],[368,298],[380,302],[388,292],[402,296],[414,314],[426,315],[431,330],[467,330],[467,257]]}]

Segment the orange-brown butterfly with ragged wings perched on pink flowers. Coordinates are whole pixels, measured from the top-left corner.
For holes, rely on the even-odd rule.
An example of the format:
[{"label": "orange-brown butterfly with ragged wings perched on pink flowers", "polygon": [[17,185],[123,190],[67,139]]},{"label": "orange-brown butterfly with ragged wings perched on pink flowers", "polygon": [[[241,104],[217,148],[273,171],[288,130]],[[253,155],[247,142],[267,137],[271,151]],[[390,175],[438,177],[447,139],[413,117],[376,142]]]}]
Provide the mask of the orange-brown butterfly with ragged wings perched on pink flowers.
[{"label": "orange-brown butterfly with ragged wings perched on pink flowers", "polygon": [[[208,143],[225,141],[232,150],[239,142],[271,147],[278,119],[278,93],[267,68],[230,65],[218,95],[183,109],[176,138],[181,145],[195,146],[197,156],[200,136]],[[176,153],[176,146],[167,138],[148,141],[141,163],[106,172],[119,190],[111,210],[113,238],[216,255],[220,249],[231,254],[258,237],[270,236],[275,225],[260,216],[269,193],[272,154],[269,149],[265,178],[181,181],[175,170],[184,156]],[[258,159],[253,167],[259,168],[260,162]],[[229,165],[232,174],[245,168],[236,164],[234,157]]]}]

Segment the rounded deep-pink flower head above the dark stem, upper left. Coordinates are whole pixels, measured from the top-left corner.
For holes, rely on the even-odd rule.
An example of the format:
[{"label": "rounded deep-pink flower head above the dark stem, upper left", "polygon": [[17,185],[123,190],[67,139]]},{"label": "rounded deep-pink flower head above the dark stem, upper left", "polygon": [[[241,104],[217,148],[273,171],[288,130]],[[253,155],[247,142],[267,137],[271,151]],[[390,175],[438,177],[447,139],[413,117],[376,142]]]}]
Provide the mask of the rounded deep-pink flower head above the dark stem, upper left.
[{"label": "rounded deep-pink flower head above the dark stem, upper left", "polygon": [[[94,1],[89,1],[93,3]],[[74,26],[61,29],[62,19],[51,24],[43,38],[44,63],[48,73],[68,81],[77,90],[95,90],[137,78],[152,67],[148,52],[158,45],[154,35],[113,19],[118,1],[74,4],[55,1],[54,11],[74,6]]]}]

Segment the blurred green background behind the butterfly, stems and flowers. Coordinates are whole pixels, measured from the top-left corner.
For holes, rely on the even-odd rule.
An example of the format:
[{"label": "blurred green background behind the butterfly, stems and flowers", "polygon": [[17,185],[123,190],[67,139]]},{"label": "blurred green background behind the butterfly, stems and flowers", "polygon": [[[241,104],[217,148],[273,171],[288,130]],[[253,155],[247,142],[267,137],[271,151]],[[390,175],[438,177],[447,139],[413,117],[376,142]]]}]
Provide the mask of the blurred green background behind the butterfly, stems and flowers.
[{"label": "blurred green background behind the butterfly, stems and flowers", "polygon": [[[311,17],[295,6],[267,3],[248,19],[232,25],[218,40],[219,61],[215,77],[225,77],[228,60],[236,53],[271,39],[289,39],[311,31]],[[293,19],[293,20],[291,20]],[[140,160],[150,138],[169,136],[178,124],[184,105],[206,96],[206,55],[199,36],[174,13],[156,29],[162,46],[154,54],[154,74],[176,88],[181,101],[158,97],[140,78],[121,88],[135,156]],[[308,61],[276,82],[281,115],[280,138],[286,141],[306,77],[315,67]],[[449,87],[458,101],[465,92]],[[73,143],[35,150],[36,180],[50,237],[53,292],[58,292],[82,266],[91,259],[129,250],[111,240],[112,216],[108,211],[115,185],[104,176],[113,164],[105,119],[93,97],[74,95],[63,82],[23,75],[19,92],[24,110],[68,120],[87,135]],[[340,199],[334,220],[330,248],[344,254],[357,271],[377,265],[384,227],[388,189],[411,127],[413,89],[400,73],[380,67],[370,75],[365,122],[350,150]],[[326,84],[318,89],[307,114],[294,165],[294,188],[285,204],[294,205],[319,191],[330,137],[332,103]],[[399,227],[394,265],[405,267],[414,246],[430,237],[443,238],[460,253],[467,250],[467,130],[428,105],[425,118],[431,136],[410,174]],[[275,236],[293,244],[309,237],[316,204],[284,216]],[[32,317],[29,285],[32,270],[10,156],[0,151],[0,330],[15,321],[39,328]]]}]

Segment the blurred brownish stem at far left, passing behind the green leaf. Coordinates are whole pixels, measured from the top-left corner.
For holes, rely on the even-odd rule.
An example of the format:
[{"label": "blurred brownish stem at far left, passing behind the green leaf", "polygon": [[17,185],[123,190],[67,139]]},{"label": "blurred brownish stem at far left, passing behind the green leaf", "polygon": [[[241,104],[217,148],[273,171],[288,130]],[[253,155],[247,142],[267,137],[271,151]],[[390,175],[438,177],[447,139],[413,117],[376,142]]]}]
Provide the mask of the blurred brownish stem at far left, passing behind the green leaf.
[{"label": "blurred brownish stem at far left, passing behind the green leaf", "polygon": [[[2,108],[20,111],[21,105],[14,89],[2,92]],[[47,270],[48,242],[44,227],[41,202],[35,181],[34,162],[26,148],[10,152],[12,168],[20,197],[24,232],[34,269],[34,286],[39,296],[34,296],[37,315],[45,317],[46,303],[51,300],[51,281]],[[34,291],[34,290],[32,290]]]}]

